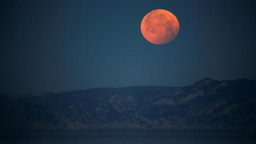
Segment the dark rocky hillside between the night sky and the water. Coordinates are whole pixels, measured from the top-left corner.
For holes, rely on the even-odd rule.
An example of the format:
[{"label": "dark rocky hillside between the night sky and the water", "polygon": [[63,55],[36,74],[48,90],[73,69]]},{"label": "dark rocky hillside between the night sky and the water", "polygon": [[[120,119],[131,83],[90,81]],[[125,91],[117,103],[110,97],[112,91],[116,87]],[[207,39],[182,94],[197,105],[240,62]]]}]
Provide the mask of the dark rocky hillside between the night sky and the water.
[{"label": "dark rocky hillside between the night sky and the water", "polygon": [[256,130],[256,81],[0,96],[0,130]]}]

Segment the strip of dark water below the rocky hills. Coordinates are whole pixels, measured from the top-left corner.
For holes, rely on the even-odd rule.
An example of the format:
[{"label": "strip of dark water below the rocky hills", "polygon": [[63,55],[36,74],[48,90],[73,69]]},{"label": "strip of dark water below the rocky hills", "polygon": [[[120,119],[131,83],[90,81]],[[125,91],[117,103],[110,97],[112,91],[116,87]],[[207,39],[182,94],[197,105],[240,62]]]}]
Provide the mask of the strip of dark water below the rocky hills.
[{"label": "strip of dark water below the rocky hills", "polygon": [[172,143],[172,144],[221,144],[256,143],[255,133],[231,132],[31,132],[1,133],[0,143],[43,143],[43,144],[98,144],[98,143]]}]

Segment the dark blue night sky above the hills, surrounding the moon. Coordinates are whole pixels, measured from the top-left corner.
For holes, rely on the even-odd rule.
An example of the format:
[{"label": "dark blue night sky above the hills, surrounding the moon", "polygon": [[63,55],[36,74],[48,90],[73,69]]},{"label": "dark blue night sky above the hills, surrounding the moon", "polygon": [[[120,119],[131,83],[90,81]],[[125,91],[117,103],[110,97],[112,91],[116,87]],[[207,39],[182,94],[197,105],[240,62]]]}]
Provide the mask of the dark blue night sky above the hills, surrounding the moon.
[{"label": "dark blue night sky above the hills, surrounding the moon", "polygon": [[[0,94],[256,80],[255,7],[244,0],[1,1]],[[141,20],[155,9],[178,18],[173,42],[143,38]]]}]

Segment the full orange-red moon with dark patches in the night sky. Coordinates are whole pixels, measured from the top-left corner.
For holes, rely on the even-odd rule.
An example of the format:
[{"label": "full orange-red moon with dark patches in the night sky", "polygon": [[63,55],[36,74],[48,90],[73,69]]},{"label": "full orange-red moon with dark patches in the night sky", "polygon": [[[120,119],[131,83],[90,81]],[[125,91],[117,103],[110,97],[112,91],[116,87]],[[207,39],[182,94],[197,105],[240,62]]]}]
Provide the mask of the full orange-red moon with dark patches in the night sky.
[{"label": "full orange-red moon with dark patches in the night sky", "polygon": [[153,10],[142,19],[141,32],[150,43],[166,44],[179,32],[178,19],[167,10]]}]

